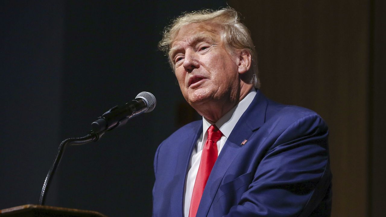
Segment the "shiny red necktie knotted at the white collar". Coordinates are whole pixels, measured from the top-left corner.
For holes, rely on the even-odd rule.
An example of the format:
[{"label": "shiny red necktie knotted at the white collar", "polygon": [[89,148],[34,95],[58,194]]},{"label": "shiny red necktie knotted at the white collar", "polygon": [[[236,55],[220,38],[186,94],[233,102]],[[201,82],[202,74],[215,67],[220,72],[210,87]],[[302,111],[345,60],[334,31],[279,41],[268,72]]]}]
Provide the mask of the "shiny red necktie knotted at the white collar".
[{"label": "shiny red necktie knotted at the white collar", "polygon": [[193,187],[192,198],[190,201],[189,217],[196,217],[198,205],[200,204],[202,193],[207,184],[208,177],[213,165],[217,160],[217,141],[220,140],[222,133],[214,125],[208,129],[208,139],[201,154],[200,166],[198,167],[196,181]]}]

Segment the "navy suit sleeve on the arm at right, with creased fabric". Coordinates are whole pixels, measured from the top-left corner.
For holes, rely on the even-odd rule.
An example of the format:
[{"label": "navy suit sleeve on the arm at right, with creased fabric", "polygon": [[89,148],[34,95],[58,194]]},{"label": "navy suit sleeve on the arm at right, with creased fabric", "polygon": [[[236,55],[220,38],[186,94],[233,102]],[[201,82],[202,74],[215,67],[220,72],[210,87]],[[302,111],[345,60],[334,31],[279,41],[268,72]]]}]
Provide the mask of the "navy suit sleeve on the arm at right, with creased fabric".
[{"label": "navy suit sleeve on the arm at right, with creased fabric", "polygon": [[309,216],[321,204],[331,180],[323,119],[305,116],[274,136],[248,190],[226,217]]}]

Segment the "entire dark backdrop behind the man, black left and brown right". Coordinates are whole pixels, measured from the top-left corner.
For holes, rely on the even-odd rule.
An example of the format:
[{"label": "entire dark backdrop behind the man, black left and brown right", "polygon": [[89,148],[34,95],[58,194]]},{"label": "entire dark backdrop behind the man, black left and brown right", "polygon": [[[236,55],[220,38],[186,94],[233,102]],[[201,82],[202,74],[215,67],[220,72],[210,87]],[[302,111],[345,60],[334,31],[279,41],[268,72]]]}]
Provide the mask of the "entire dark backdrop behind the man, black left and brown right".
[{"label": "entire dark backdrop behind the man, black left and brown right", "polygon": [[[385,3],[229,1],[251,29],[270,98],[330,126],[333,216],[385,207]],[[186,107],[157,50],[169,20],[225,1],[0,1],[0,209],[37,204],[59,143],[84,136],[115,105],[149,91],[157,107],[69,146],[46,204],[110,217],[150,216],[153,156]]]}]

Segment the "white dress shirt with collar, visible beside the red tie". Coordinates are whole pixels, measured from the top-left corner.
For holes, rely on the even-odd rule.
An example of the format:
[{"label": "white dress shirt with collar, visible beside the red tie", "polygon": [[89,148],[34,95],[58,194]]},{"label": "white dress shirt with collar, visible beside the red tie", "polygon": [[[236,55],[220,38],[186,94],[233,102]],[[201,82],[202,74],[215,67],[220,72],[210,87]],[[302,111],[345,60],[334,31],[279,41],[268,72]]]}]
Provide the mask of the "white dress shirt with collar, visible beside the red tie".
[{"label": "white dress shirt with collar, visible beside the red tie", "polygon": [[233,128],[235,127],[237,121],[239,121],[242,114],[244,114],[245,110],[247,110],[249,104],[252,103],[253,98],[256,95],[256,89],[252,88],[251,91],[245,96],[244,99],[242,99],[234,108],[230,109],[222,118],[220,118],[216,123],[212,123],[212,121],[209,121],[202,117],[202,133],[201,136],[197,140],[197,145],[194,148],[190,164],[189,164],[189,172],[186,175],[186,182],[185,182],[185,195],[184,195],[184,216],[189,216],[189,209],[190,209],[190,201],[193,193],[193,187],[194,183],[196,181],[196,176],[198,172],[198,167],[200,166],[201,161],[201,153],[203,146],[205,145],[205,141],[207,141],[208,133],[207,130],[210,127],[210,125],[215,124],[218,129],[222,132],[223,136],[219,141],[217,141],[217,151],[218,154],[220,154],[220,151],[222,150],[225,142],[227,141],[230,133],[232,132]]}]

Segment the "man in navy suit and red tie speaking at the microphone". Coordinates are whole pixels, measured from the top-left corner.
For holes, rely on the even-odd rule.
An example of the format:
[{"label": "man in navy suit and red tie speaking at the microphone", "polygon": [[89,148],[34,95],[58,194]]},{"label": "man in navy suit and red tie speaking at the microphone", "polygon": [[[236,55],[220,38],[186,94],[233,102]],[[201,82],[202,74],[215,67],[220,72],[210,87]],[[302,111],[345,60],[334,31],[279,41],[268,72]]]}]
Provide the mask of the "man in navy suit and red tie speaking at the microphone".
[{"label": "man in navy suit and red tie speaking at the microphone", "polygon": [[254,45],[234,9],[186,13],[159,47],[203,119],[158,147],[154,217],[330,215],[327,125],[259,91]]}]

